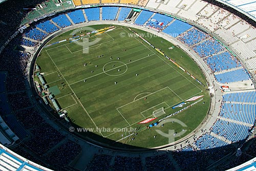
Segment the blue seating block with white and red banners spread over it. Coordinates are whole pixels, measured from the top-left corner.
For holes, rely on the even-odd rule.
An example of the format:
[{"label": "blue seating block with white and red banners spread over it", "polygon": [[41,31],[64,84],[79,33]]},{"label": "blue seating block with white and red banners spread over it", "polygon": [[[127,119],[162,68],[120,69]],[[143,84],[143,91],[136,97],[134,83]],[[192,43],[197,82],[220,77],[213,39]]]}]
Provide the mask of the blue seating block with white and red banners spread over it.
[{"label": "blue seating block with white and red banners spread over it", "polygon": [[164,26],[168,25],[172,22],[173,18],[167,15],[156,13],[149,22],[147,22],[147,26],[153,27],[155,29],[162,30]]}]

